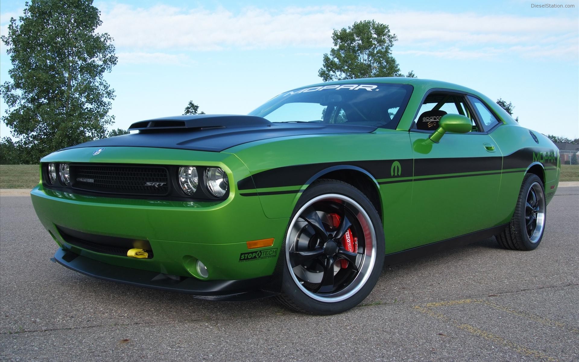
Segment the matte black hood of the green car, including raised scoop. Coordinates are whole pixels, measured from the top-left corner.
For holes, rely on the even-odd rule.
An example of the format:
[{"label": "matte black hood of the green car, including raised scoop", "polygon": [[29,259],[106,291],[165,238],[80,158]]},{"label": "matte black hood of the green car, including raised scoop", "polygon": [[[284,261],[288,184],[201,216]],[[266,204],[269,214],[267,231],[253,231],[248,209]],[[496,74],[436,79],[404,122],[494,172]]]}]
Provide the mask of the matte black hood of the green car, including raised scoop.
[{"label": "matte black hood of the green car, including raised scoop", "polygon": [[221,152],[233,146],[268,138],[369,133],[376,128],[307,122],[271,123],[265,118],[245,115],[190,115],[136,122],[129,130],[138,130],[139,133],[89,141],[68,148],[125,146]]}]

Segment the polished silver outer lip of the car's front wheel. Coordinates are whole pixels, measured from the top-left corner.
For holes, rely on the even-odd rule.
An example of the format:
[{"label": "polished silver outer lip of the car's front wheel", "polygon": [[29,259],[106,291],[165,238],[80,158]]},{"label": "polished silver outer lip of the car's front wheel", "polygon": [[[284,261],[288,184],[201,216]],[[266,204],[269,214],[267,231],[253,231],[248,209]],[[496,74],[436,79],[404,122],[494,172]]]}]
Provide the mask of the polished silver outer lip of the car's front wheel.
[{"label": "polished silver outer lip of the car's front wheel", "polygon": [[[348,284],[348,286],[346,286],[345,288],[343,288],[338,292],[335,292],[334,294],[316,294],[310,290],[307,290],[296,277],[290,261],[290,249],[292,248],[295,242],[295,240],[292,241],[290,239],[292,237],[292,230],[294,229],[296,222],[301,219],[300,216],[308,207],[312,206],[314,203],[323,200],[328,200],[332,202],[336,202],[336,200],[339,200],[343,203],[346,203],[348,207],[355,207],[356,211],[358,212],[357,215],[358,222],[361,222],[361,227],[362,229],[364,229],[364,239],[366,243],[366,246],[364,248],[365,253],[361,254],[363,259],[361,261],[360,271],[358,272],[356,277],[354,277],[354,280],[352,280],[350,284]],[[374,268],[374,264],[376,262],[376,233],[374,231],[373,223],[368,213],[366,213],[366,211],[356,201],[345,195],[340,195],[338,193],[326,193],[324,195],[316,196],[316,198],[309,200],[294,215],[294,218],[292,218],[292,221],[288,228],[287,237],[285,239],[285,262],[290,272],[290,275],[294,280],[295,285],[298,286],[298,288],[302,292],[304,292],[308,297],[321,302],[340,302],[352,297],[358,291],[360,291],[362,287],[364,287],[364,285],[366,284],[372,273],[372,269]]]}]

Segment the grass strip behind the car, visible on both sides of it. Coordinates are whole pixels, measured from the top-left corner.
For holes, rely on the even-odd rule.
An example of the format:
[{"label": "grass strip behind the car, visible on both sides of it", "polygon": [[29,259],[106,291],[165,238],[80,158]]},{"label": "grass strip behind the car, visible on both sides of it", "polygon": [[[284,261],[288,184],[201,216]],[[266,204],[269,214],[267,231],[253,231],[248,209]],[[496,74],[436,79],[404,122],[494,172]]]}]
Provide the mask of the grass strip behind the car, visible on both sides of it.
[{"label": "grass strip behind the car, visible on both sides of it", "polygon": [[[0,164],[0,189],[31,189],[38,172],[38,164]],[[562,164],[559,181],[579,181],[579,165]]]}]

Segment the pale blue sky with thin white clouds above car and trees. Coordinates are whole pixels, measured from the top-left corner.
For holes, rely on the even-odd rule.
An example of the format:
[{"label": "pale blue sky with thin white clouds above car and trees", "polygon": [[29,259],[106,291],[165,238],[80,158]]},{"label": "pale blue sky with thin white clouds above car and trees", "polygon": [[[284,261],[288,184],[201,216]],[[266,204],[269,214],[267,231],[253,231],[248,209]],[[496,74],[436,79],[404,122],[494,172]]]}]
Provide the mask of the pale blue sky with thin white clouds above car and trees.
[{"label": "pale blue sky with thin white clouds above car and trees", "polygon": [[[538,3],[538,2],[534,2]],[[541,2],[542,3],[542,2]],[[551,2],[555,3],[555,2]],[[579,137],[579,3],[533,8],[529,1],[229,2],[96,1],[100,32],[119,63],[113,127],[182,114],[246,114],[269,98],[320,82],[335,28],[375,19],[398,36],[402,72],[458,83],[511,101],[521,125]],[[185,4],[185,5],[184,5]],[[0,32],[24,1],[0,1]],[[10,60],[0,46],[0,82]],[[2,115],[6,109],[0,100]],[[1,136],[9,136],[5,125]]]}]

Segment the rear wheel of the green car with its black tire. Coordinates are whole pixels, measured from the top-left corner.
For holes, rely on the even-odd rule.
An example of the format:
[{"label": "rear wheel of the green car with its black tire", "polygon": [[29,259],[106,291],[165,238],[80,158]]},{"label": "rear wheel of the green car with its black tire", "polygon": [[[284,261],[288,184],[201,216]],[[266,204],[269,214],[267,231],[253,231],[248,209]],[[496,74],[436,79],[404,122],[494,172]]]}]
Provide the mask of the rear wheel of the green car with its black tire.
[{"label": "rear wheel of the green car with its black tire", "polygon": [[[533,197],[536,199],[534,204]],[[523,178],[511,222],[503,232],[496,235],[497,242],[505,249],[533,250],[543,239],[546,221],[543,181],[536,174],[527,173]]]}]

